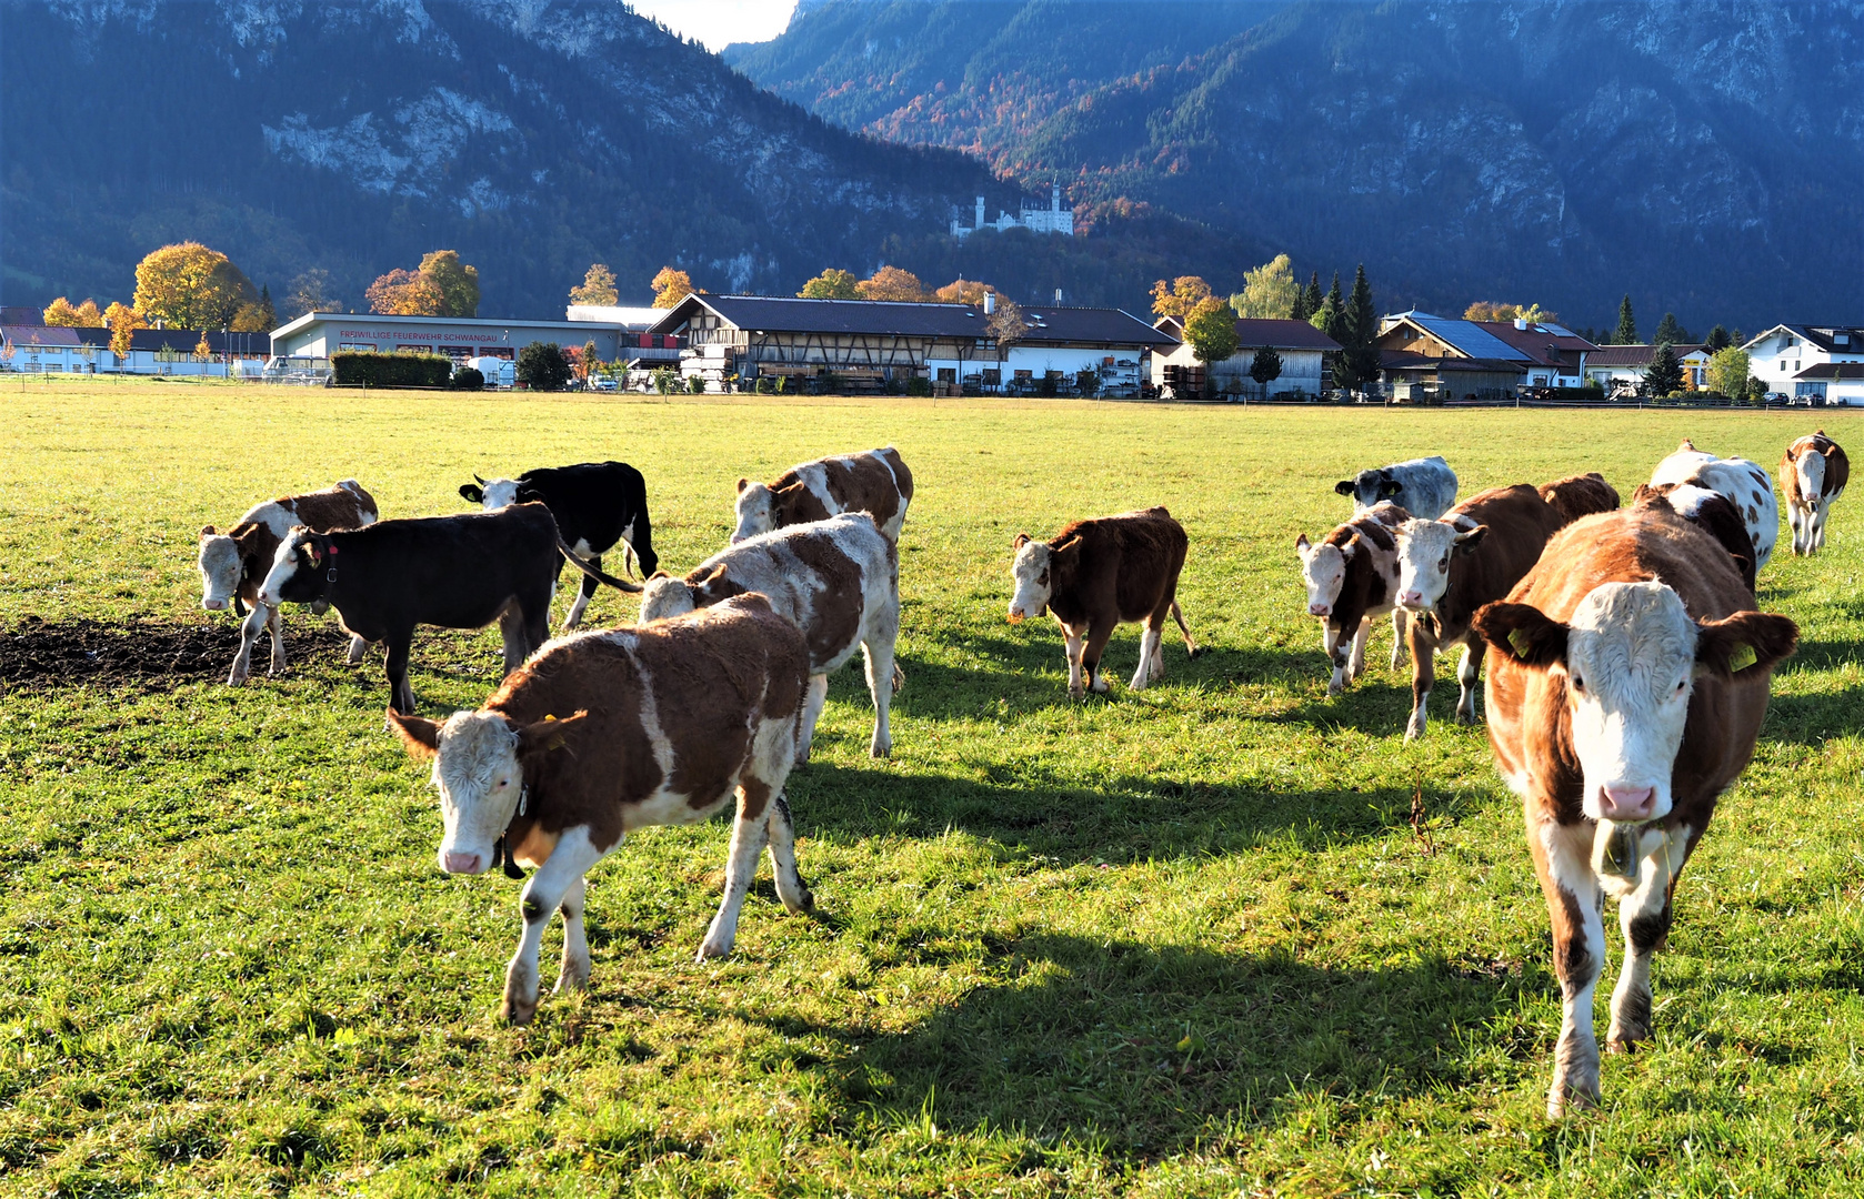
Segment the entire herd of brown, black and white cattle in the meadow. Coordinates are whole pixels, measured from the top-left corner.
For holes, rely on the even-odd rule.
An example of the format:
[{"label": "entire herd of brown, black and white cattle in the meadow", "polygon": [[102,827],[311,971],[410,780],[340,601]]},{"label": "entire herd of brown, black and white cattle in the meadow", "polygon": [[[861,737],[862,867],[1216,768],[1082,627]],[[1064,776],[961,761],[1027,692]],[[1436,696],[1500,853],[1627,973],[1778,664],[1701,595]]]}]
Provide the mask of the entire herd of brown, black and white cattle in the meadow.
[{"label": "entire herd of brown, black and white cattle in the meadow", "polygon": [[[1782,464],[1795,553],[1825,544],[1847,482],[1823,430]],[[1599,1097],[1592,992],[1603,968],[1603,899],[1620,899],[1625,961],[1610,1048],[1650,1035],[1650,955],[1670,894],[1717,795],[1741,773],[1769,674],[1797,626],[1756,609],[1754,577],[1776,540],[1767,473],[1685,441],[1629,508],[1599,475],[1491,488],[1458,503],[1443,458],[1361,471],[1336,486],[1351,519],[1295,542],[1309,613],[1322,620],[1329,694],[1364,672],[1374,622],[1392,618],[1391,663],[1409,648],[1422,737],[1439,650],[1461,646],[1456,713],[1486,717],[1497,765],[1525,801],[1528,845],[1555,931],[1564,992],[1549,1111]],[[703,821],[736,801],[725,896],[699,957],[731,951],[738,909],[768,847],[790,912],[813,897],[796,869],[785,802],[807,761],[828,676],[859,648],[874,702],[870,752],[893,748],[889,706],[904,683],[898,536],[913,495],[893,447],[822,458],[772,482],[738,480],[731,546],[682,577],[658,570],[645,482],[619,462],[528,471],[460,488],[481,512],[380,519],[354,480],[268,501],[229,532],[201,531],[203,605],[250,614],[229,683],[250,674],[280,607],[337,609],[350,661],[386,648],[388,721],[432,760],[447,873],[524,877],[524,933],[501,1011],[528,1022],[552,912],[565,920],[557,989],[589,977],[583,877],[641,827]],[[623,551],[645,583],[602,570]],[[1187,538],[1165,508],[1079,519],[1055,538],[1014,540],[1008,620],[1053,613],[1068,691],[1107,691],[1102,655],[1120,622],[1143,622],[1131,689],[1163,678]],[[548,609],[563,564],[583,579],[563,633]],[[576,631],[598,585],[643,592],[639,624]],[[416,626],[500,624],[505,681],[475,711],[416,715],[406,681]]]}]

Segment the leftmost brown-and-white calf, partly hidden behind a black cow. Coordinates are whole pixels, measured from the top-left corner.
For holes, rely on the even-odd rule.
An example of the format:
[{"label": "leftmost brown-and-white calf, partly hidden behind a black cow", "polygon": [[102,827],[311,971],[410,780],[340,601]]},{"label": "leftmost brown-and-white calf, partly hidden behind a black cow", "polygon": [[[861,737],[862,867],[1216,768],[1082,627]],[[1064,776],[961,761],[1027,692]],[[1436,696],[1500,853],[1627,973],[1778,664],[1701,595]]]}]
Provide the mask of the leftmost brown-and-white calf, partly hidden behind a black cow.
[{"label": "leftmost brown-and-white calf, partly hidden behind a black cow", "polygon": [[[285,622],[276,607],[259,603],[259,585],[272,570],[272,555],[278,553],[278,544],[285,540],[293,525],[328,532],[332,529],[362,529],[373,525],[378,516],[375,497],[363,492],[354,478],[345,478],[324,492],[280,495],[255,505],[226,532],[218,532],[212,525],[201,529],[198,560],[201,607],[209,613],[224,613],[233,607],[237,614],[246,616],[227,685],[239,687],[252,676],[252,646],[265,627],[272,629],[272,668],[268,674],[285,670]],[[246,614],[248,605],[252,614]],[[360,663],[367,644],[363,639],[352,637],[349,661]]]}]

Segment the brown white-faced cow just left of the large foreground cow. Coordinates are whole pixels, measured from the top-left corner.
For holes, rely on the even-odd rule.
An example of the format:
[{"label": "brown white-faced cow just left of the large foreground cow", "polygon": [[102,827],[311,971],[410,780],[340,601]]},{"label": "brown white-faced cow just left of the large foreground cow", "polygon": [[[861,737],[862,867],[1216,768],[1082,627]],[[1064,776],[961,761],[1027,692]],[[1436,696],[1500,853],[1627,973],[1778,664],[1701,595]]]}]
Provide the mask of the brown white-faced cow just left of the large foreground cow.
[{"label": "brown white-faced cow just left of the large foreground cow", "polygon": [[1461,691],[1456,719],[1476,719],[1476,676],[1482,637],[1469,620],[1484,603],[1508,594],[1534,566],[1547,538],[1564,525],[1525,482],[1491,488],[1450,508],[1441,519],[1398,525],[1398,607],[1411,616],[1411,722],[1405,741],[1424,735],[1437,650],[1461,642],[1456,667]]}]

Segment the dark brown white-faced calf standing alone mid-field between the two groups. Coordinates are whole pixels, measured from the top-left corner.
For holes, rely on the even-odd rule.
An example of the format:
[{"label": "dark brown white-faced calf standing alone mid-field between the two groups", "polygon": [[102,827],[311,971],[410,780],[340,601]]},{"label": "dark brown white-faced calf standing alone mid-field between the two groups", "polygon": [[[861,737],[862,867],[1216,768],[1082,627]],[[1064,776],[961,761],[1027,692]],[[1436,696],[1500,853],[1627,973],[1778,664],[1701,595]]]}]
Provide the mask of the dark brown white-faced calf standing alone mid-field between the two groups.
[{"label": "dark brown white-faced calf standing alone mid-field between the two groups", "polygon": [[1068,655],[1068,694],[1105,691],[1100,653],[1120,622],[1144,620],[1133,691],[1165,678],[1165,614],[1178,622],[1186,650],[1197,642],[1178,607],[1178,572],[1189,540],[1165,508],[1074,521],[1049,542],[1018,532],[1010,577],[1010,624],[1055,613]]}]

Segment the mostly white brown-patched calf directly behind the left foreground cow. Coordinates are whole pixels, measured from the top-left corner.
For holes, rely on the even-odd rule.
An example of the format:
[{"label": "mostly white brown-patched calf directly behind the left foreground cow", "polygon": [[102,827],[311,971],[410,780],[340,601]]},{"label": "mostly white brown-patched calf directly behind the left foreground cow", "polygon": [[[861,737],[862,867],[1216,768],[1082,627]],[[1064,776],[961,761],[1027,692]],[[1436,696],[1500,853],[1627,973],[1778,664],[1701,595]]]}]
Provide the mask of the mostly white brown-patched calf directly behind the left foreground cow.
[{"label": "mostly white brown-patched calf directly behind the left foreground cow", "polygon": [[900,637],[900,559],[867,512],[790,525],[738,542],[699,564],[684,579],[656,573],[641,592],[641,624],[710,607],[729,596],[759,592],[809,640],[809,700],[803,704],[796,761],[809,761],[815,726],[828,702],[828,676],[856,646],[867,655],[867,691],[874,698],[869,752],[893,752],[887,709]]}]

